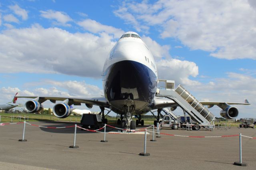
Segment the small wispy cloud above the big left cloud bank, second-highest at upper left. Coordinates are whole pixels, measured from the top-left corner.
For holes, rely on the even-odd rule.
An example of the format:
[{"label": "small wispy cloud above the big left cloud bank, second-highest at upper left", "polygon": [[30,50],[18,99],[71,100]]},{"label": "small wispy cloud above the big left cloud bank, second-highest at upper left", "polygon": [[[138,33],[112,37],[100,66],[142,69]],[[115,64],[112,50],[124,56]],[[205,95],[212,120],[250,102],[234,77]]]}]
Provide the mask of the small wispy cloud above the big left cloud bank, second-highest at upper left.
[{"label": "small wispy cloud above the big left cloud bank, second-highest at upper left", "polygon": [[51,20],[56,20],[57,22],[54,24],[71,26],[70,24],[67,24],[67,22],[72,21],[72,18],[70,18],[70,16],[68,16],[68,14],[66,14],[65,12],[53,11],[53,10],[40,11],[40,12],[42,17],[51,19]]}]

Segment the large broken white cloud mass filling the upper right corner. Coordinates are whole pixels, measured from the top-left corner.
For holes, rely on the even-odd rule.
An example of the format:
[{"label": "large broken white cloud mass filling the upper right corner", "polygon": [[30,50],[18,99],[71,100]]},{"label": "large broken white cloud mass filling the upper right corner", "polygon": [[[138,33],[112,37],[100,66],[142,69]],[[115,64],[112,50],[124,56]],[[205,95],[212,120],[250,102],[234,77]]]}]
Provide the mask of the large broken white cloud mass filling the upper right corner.
[{"label": "large broken white cloud mass filling the upper right corner", "polygon": [[[124,2],[114,12],[129,24],[157,26],[162,38],[178,38],[190,49],[225,59],[256,59],[256,8],[250,0]],[[162,29],[161,29],[162,28]]]}]

